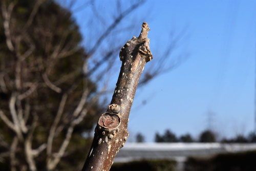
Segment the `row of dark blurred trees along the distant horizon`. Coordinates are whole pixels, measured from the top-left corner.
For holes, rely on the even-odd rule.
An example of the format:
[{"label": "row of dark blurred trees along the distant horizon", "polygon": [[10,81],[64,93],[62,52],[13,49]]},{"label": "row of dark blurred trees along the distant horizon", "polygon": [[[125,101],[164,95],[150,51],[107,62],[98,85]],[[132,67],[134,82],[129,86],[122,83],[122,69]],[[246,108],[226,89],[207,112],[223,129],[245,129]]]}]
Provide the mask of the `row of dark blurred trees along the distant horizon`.
[{"label": "row of dark blurred trees along the distant horizon", "polygon": [[[144,136],[141,133],[136,135],[136,142],[144,142]],[[166,130],[162,135],[155,134],[155,142],[217,142],[217,136],[211,130],[205,130],[199,135],[199,139],[194,139],[190,134],[176,136],[170,130]],[[248,136],[237,135],[234,138],[223,138],[218,142],[222,143],[253,143],[256,142],[256,134],[250,133]]]}]

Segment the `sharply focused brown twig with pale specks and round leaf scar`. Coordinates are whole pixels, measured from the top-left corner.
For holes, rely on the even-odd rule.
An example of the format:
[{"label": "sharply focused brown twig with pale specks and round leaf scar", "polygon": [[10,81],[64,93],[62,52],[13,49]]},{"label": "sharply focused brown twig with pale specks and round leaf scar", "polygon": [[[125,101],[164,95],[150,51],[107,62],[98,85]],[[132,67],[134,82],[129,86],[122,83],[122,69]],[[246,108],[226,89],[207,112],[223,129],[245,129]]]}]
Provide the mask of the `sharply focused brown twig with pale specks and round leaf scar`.
[{"label": "sharply focused brown twig with pale specks and round leaf scar", "polygon": [[147,23],[143,23],[139,37],[127,41],[120,50],[122,66],[115,92],[108,110],[99,118],[82,171],[110,170],[116,154],[129,136],[127,125],[139,78],[146,62],[153,58],[148,30]]}]

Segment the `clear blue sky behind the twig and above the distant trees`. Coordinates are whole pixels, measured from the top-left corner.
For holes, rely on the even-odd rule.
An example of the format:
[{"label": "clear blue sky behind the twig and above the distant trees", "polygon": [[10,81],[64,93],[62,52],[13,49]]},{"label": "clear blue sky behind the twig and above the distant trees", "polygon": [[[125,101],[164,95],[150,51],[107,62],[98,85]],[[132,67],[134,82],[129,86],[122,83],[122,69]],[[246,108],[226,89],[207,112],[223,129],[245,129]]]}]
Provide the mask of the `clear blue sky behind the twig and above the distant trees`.
[{"label": "clear blue sky behind the twig and above the distant trees", "polygon": [[[104,17],[113,7],[109,1],[101,2]],[[84,11],[74,17],[86,37]],[[131,137],[140,132],[151,142],[156,132],[170,129],[178,136],[190,133],[197,138],[209,124],[219,137],[253,130],[256,1],[147,1],[135,15],[138,29],[132,34],[139,34],[144,21],[151,28],[150,62],[159,60],[155,54],[168,43],[170,30],[178,33],[184,28],[188,36],[179,53],[184,50],[189,57],[137,91],[130,114]]]}]

